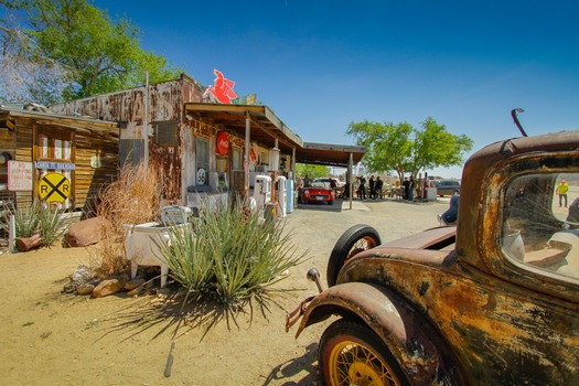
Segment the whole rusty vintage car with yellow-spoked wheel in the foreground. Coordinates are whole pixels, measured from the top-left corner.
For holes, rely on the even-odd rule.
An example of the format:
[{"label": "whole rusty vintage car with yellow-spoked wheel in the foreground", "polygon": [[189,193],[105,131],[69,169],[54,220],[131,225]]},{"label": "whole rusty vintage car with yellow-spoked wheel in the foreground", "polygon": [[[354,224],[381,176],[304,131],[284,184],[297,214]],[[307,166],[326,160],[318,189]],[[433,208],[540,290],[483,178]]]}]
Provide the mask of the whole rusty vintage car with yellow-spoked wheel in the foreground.
[{"label": "whole rusty vintage car with yellow-spoked wheel in the foreground", "polygon": [[491,144],[464,165],[455,226],[384,244],[351,227],[286,330],[337,317],[325,385],[579,385],[577,197],[579,131]]}]

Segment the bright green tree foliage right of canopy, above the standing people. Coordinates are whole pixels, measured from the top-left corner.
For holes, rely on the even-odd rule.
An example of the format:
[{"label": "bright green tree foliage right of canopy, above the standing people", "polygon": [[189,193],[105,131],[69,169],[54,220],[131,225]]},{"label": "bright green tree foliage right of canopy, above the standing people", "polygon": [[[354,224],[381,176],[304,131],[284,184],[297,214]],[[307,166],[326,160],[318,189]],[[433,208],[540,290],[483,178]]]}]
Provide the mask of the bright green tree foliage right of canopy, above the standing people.
[{"label": "bright green tree foliage right of canopy, above the standing people", "polygon": [[346,133],[366,147],[363,164],[369,172],[395,171],[400,181],[404,172],[416,176],[421,170],[460,165],[473,144],[465,135],[454,136],[430,117],[418,129],[407,122],[352,122]]}]

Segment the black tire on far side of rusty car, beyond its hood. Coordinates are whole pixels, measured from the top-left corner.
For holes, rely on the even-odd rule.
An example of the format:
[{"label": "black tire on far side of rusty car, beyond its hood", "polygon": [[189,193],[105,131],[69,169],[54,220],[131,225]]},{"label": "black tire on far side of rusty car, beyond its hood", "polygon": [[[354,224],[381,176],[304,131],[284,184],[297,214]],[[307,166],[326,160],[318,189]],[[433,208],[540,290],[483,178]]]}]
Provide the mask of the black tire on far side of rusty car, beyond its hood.
[{"label": "black tire on far side of rusty car, beyond its hood", "polygon": [[357,224],[350,227],[334,245],[325,271],[328,287],[335,286],[337,274],[354,255],[382,244],[380,235],[369,225]]}]

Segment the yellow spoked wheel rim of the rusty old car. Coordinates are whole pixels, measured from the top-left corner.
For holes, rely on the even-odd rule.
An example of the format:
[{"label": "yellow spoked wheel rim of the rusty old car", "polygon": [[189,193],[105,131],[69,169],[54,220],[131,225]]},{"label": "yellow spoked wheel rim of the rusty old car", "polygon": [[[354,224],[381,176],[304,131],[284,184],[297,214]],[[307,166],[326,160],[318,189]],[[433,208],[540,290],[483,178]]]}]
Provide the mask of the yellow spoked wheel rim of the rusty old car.
[{"label": "yellow spoked wheel rim of the rusty old car", "polygon": [[399,385],[388,364],[360,342],[344,340],[334,345],[328,366],[332,385]]}]

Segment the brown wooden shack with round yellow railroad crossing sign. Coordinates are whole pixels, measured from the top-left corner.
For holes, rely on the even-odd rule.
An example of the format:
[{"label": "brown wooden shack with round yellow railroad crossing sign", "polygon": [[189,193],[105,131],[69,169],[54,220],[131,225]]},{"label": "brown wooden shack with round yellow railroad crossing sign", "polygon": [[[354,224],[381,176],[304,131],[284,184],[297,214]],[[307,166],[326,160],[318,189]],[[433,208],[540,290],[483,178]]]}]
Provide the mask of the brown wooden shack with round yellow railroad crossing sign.
[{"label": "brown wooden shack with round yellow railroad crossing sign", "polygon": [[118,141],[117,122],[0,107],[0,200],[19,208],[40,199],[85,210],[117,176]]}]

